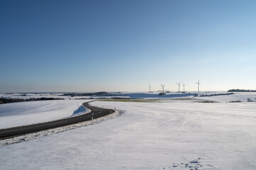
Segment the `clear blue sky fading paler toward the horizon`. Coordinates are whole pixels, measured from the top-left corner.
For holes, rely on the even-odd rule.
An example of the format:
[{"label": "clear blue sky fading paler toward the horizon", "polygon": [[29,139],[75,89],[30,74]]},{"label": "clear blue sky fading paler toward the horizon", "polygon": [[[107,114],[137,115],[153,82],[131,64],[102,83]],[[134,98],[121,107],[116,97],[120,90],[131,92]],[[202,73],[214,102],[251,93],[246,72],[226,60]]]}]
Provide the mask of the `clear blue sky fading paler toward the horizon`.
[{"label": "clear blue sky fading paler toward the horizon", "polygon": [[1,0],[0,92],[256,89],[256,1]]}]

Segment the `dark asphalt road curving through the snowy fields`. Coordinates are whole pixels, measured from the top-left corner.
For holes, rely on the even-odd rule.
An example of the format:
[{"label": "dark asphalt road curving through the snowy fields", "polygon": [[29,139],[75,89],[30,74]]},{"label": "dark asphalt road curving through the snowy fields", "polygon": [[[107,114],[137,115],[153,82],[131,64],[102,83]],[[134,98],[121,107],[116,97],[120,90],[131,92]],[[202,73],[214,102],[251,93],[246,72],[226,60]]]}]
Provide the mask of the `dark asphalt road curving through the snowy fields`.
[{"label": "dark asphalt road curving through the snowy fields", "polygon": [[[92,101],[90,101],[92,102]],[[27,133],[31,132],[38,132],[41,130],[48,130],[52,128],[58,128],[61,126],[65,125],[71,125],[75,123],[80,123],[84,122],[87,120],[92,120],[92,114],[93,118],[100,118],[105,115],[109,115],[111,113],[114,113],[112,109],[106,109],[106,108],[97,108],[94,106],[90,106],[88,103],[82,103],[85,108],[89,108],[91,111],[90,113],[86,113],[83,115],[78,115],[74,116],[71,118],[63,118],[60,120],[54,120],[51,122],[46,122],[46,123],[38,123],[38,124],[33,124],[33,125],[24,125],[24,126],[19,126],[19,127],[14,127],[14,128],[7,128],[7,129],[1,129],[0,130],[0,140],[4,140],[10,137],[15,137],[15,136],[20,136],[20,135],[25,135]]]}]

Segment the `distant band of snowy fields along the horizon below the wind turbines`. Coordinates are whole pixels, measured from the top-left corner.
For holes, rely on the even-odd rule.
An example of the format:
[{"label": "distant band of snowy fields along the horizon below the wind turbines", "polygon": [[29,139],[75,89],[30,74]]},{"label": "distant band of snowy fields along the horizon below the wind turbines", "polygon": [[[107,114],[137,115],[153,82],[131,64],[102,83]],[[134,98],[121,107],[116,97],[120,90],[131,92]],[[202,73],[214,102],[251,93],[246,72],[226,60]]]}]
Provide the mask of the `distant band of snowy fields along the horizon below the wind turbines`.
[{"label": "distant band of snowy fields along the horizon below the wind turbines", "polygon": [[[0,94],[0,98],[65,98],[65,99],[78,99],[78,98],[194,98],[194,95],[197,92],[187,92],[186,94],[169,92],[166,95],[159,96],[161,91],[153,91],[149,93],[148,91],[138,91],[138,92],[120,92],[119,94],[112,94],[114,96],[61,96],[63,94]],[[250,98],[251,101],[256,101],[255,92],[235,92],[232,95],[223,95],[223,96],[209,96],[211,94],[227,94],[227,91],[212,91],[212,92],[200,92],[199,97],[196,97],[201,100],[208,101],[218,101],[218,102],[230,102],[230,101],[247,101],[247,98]],[[200,97],[201,95],[208,95]]]}]

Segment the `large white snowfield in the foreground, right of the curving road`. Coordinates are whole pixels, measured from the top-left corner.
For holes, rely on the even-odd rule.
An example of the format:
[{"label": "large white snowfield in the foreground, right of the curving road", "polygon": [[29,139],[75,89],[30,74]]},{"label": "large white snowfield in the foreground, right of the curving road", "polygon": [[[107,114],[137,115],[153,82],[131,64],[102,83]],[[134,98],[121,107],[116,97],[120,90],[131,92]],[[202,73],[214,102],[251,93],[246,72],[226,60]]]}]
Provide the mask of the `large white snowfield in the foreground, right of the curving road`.
[{"label": "large white snowfield in the foreground, right of the curving road", "polygon": [[0,169],[256,169],[256,103],[96,101],[117,118],[0,147]]}]

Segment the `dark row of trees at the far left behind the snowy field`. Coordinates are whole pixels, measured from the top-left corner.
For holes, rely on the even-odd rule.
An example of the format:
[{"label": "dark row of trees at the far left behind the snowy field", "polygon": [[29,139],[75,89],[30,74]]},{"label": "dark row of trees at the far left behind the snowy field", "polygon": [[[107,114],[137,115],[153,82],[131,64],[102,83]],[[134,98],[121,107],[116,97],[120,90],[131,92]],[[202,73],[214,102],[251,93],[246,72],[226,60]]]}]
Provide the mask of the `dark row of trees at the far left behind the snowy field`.
[{"label": "dark row of trees at the far left behind the snowy field", "polygon": [[0,104],[14,103],[21,101],[53,101],[53,100],[64,100],[64,98],[0,98]]}]

